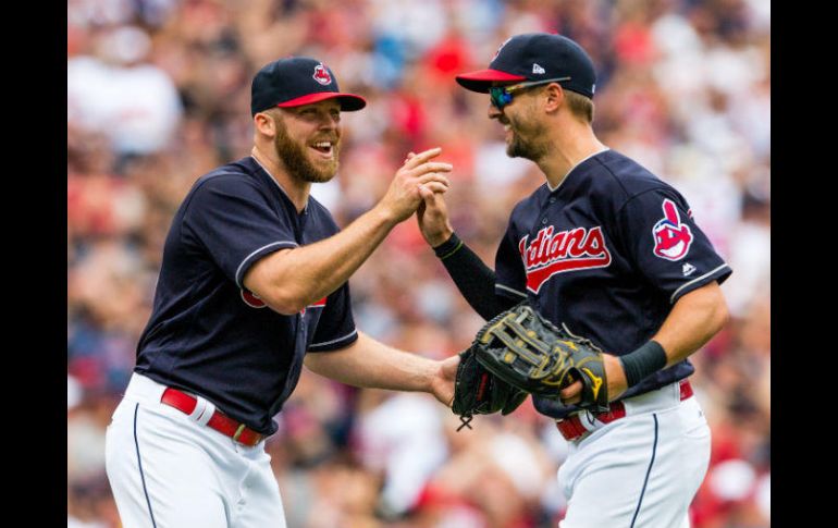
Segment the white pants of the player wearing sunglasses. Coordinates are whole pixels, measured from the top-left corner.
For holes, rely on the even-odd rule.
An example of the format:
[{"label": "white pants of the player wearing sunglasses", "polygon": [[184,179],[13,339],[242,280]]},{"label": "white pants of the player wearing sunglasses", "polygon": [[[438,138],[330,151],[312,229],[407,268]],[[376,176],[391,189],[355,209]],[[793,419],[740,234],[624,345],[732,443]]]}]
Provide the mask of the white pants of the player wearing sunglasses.
[{"label": "white pants of the player wearing sunglasses", "polygon": [[626,416],[570,442],[559,528],[689,528],[710,464],[710,428],[678,383],[624,401]]}]

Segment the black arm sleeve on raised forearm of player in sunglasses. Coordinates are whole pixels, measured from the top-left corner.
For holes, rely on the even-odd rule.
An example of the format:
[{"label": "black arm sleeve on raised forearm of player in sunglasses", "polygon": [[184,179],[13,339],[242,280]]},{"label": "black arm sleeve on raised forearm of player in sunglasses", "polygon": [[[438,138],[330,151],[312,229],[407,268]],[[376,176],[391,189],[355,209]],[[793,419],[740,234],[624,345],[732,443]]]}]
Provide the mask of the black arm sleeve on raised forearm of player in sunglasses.
[{"label": "black arm sleeve on raised forearm of player in sunglasses", "polygon": [[434,247],[463,297],[480,317],[490,320],[516,302],[495,294],[495,272],[456,235]]}]

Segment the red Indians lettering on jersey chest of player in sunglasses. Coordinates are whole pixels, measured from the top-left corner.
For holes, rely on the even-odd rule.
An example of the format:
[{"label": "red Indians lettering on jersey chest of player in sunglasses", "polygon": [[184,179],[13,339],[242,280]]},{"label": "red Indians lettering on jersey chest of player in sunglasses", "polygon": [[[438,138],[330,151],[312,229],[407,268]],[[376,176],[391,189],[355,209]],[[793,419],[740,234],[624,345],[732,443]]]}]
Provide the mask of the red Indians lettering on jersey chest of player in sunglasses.
[{"label": "red Indians lettering on jersey chest of player in sunglasses", "polygon": [[600,225],[576,228],[554,233],[553,225],[542,229],[530,244],[528,236],[518,243],[518,250],[527,268],[527,290],[539,293],[541,285],[556,273],[592,268],[605,268],[611,263],[611,253]]}]

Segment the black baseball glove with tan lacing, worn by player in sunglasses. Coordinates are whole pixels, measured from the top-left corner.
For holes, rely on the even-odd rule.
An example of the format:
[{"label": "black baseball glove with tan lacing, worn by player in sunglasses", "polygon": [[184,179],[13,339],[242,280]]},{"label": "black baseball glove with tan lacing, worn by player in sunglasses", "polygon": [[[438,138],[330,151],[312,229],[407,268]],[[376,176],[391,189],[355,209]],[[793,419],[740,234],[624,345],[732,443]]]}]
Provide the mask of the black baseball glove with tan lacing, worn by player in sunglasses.
[{"label": "black baseball glove with tan lacing, worn by player in sunglasses", "polygon": [[489,321],[471,346],[478,363],[503,381],[542,397],[582,381],[578,407],[608,410],[602,351],[589,340],[558,329],[526,303]]}]

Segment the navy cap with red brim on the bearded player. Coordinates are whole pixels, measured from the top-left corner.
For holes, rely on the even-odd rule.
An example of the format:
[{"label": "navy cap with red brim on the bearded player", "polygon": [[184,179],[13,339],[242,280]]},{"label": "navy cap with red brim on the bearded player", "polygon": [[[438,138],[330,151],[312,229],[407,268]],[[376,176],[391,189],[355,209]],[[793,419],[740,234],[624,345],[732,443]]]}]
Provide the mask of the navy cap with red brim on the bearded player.
[{"label": "navy cap with red brim on the bearded player", "polygon": [[266,64],[254,77],[250,114],[273,107],[299,107],[325,99],[337,99],[345,112],[367,106],[360,96],[342,94],[334,73],[322,62],[307,57],[288,57]]}]

